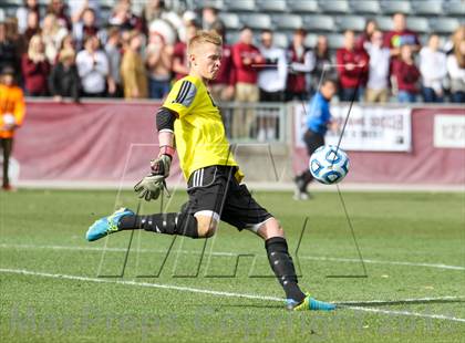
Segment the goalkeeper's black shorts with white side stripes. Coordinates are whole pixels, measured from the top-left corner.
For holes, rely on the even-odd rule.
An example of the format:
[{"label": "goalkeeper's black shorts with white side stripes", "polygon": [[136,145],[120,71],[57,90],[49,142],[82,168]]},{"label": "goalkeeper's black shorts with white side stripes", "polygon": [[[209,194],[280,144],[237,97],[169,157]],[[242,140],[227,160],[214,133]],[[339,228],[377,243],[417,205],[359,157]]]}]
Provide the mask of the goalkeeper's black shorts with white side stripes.
[{"label": "goalkeeper's black shorts with white side stripes", "polygon": [[195,170],[187,183],[189,214],[214,211],[239,230],[256,231],[272,216],[252,198],[246,185],[234,177],[236,167],[209,166]]}]

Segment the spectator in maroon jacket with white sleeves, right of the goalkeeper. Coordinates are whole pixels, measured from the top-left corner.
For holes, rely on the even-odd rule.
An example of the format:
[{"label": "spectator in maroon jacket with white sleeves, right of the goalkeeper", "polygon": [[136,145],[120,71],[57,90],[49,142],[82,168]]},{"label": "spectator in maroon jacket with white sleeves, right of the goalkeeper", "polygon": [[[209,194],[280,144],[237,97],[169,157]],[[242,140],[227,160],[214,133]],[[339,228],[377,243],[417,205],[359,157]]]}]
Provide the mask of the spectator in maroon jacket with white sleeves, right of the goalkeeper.
[{"label": "spectator in maroon jacket with white sleeves, right of the goalkeeper", "polygon": [[314,69],[314,55],[310,49],[303,45],[306,40],[306,31],[296,30],[287,54],[290,63],[290,71],[286,86],[286,101],[307,100],[310,85],[308,77]]}]

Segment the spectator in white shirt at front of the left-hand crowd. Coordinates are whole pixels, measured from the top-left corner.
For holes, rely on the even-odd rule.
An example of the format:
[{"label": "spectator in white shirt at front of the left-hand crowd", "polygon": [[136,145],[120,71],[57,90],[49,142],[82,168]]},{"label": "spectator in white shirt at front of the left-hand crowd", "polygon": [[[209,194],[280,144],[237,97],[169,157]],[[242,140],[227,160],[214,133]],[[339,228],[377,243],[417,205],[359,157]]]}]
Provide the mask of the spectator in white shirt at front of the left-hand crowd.
[{"label": "spectator in white shirt at front of the left-hand crowd", "polygon": [[84,50],[80,51],[76,56],[83,96],[103,97],[106,93],[108,60],[106,54],[99,50],[99,45],[100,42],[96,37],[86,37],[84,40]]}]

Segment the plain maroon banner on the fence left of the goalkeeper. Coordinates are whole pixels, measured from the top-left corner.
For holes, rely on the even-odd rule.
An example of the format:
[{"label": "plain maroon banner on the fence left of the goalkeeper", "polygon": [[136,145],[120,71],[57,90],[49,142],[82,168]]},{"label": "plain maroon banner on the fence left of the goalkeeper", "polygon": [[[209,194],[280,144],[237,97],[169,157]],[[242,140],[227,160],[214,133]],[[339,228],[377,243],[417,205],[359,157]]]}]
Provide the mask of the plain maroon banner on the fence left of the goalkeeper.
[{"label": "plain maroon banner on the fence left of the goalkeeper", "polygon": [[[158,106],[131,102],[28,102],[24,125],[17,132],[13,148],[20,178],[140,179],[148,173],[149,159],[158,152]],[[177,162],[173,169],[178,170]]]}]

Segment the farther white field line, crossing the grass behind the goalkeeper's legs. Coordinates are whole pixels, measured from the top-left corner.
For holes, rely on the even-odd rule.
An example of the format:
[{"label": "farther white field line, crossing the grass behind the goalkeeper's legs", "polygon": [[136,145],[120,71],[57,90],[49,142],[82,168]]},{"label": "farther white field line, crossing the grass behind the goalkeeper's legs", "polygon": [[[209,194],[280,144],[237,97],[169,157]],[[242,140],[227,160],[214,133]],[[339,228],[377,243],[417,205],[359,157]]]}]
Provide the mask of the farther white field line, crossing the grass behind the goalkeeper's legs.
[{"label": "farther white field line, crossing the grass behind the goalkeeper's legs", "polygon": [[[78,251],[126,251],[126,248],[101,248],[101,247],[73,247],[73,246],[37,246],[37,245],[8,245],[0,243],[0,248],[3,249],[50,249],[50,250],[78,250]],[[137,252],[159,252],[167,253],[166,250],[154,250],[154,249],[131,249],[132,251]],[[174,253],[198,253],[200,251],[186,251],[186,250],[174,250]],[[206,252],[207,254],[209,252]],[[232,256],[237,257],[240,253],[236,252],[221,252],[214,251],[213,256]],[[318,257],[318,256],[299,256],[299,259],[302,260],[313,260],[313,261],[333,261],[333,262],[349,262],[349,263],[360,263],[359,259],[349,259],[349,258],[331,258],[331,257]],[[364,259],[365,263],[369,264],[392,264],[392,266],[411,266],[411,267],[426,267],[426,268],[437,268],[437,269],[448,269],[448,270],[465,270],[465,267],[462,266],[450,266],[443,263],[423,263],[423,262],[407,262],[407,261],[384,261],[384,260],[370,260]]]}]

